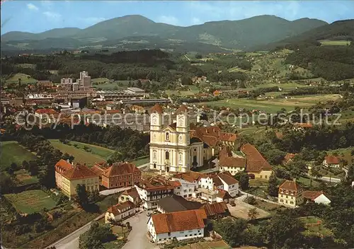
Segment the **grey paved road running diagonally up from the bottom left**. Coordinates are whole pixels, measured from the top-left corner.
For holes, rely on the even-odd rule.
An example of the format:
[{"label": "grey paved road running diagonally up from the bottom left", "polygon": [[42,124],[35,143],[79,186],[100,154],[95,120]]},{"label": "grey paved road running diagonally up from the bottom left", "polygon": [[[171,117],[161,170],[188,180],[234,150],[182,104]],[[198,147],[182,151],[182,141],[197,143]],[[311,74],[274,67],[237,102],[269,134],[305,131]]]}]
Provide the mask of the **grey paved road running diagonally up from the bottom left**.
[{"label": "grey paved road running diagonally up from the bottom left", "polygon": [[[97,221],[98,219],[102,219],[105,214],[101,214],[93,221]],[[77,229],[76,231],[70,233],[68,236],[60,239],[59,241],[49,245],[48,247],[55,246],[57,249],[78,249],[79,248],[79,237],[82,233],[89,231],[92,221],[88,224],[81,226],[81,228]]]}]

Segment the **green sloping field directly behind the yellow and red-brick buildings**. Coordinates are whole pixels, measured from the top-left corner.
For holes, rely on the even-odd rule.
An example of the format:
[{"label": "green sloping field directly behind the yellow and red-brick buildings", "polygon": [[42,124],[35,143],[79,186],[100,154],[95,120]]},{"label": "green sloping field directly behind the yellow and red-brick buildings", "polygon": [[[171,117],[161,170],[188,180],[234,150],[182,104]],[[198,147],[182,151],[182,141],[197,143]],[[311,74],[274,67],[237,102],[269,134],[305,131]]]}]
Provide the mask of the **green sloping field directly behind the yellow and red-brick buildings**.
[{"label": "green sloping field directly behind the yellow and red-brick buildings", "polygon": [[[52,146],[55,149],[59,149],[62,153],[67,153],[69,155],[74,156],[74,163],[86,163],[87,166],[92,167],[95,163],[103,162],[107,158],[103,156],[98,156],[98,154],[106,153],[105,148],[100,146],[93,146],[91,144],[86,144],[89,148],[91,148],[92,152],[84,151],[83,149],[76,149],[74,146],[70,146],[68,144],[63,144],[58,140],[50,140]],[[108,150],[108,149],[107,149]],[[97,152],[98,154],[94,154],[93,151],[100,151]]]}]

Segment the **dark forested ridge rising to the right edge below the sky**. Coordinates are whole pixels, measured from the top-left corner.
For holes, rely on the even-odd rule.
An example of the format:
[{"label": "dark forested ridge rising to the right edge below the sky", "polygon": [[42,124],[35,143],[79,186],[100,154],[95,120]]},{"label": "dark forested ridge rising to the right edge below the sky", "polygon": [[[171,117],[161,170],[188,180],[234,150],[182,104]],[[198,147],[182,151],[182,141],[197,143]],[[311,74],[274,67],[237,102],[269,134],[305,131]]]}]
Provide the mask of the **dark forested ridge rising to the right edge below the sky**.
[{"label": "dark forested ridge rising to the right edge below the sky", "polygon": [[354,19],[336,21],[328,25],[321,25],[307,32],[295,35],[293,37],[272,42],[268,45],[257,47],[258,50],[272,50],[275,47],[285,47],[304,42],[316,42],[319,40],[354,40]]}]

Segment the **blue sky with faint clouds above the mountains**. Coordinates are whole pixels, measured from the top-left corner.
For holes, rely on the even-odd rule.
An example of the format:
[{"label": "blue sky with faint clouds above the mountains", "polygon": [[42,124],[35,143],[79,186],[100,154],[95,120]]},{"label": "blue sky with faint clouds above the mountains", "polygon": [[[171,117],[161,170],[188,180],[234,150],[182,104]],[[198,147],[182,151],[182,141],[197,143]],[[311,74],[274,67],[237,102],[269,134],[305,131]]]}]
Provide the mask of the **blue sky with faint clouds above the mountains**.
[{"label": "blue sky with faint clouds above the mountains", "polygon": [[24,1],[1,0],[1,35],[40,33],[52,28],[86,28],[119,16],[188,26],[207,21],[275,15],[287,20],[317,18],[328,23],[354,18],[354,1]]}]

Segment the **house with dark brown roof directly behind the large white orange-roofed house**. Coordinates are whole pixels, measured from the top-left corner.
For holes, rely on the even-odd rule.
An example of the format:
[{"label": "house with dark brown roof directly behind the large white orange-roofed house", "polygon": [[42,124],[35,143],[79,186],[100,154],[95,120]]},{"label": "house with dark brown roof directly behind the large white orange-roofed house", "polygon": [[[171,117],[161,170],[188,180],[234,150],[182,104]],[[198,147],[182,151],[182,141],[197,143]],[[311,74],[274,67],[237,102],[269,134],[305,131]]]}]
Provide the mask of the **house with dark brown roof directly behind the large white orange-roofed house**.
[{"label": "house with dark brown roof directly behind the large white orange-roofed house", "polygon": [[157,202],[157,211],[162,214],[200,209],[200,207],[202,207],[200,202],[190,202],[179,195],[164,197]]}]

